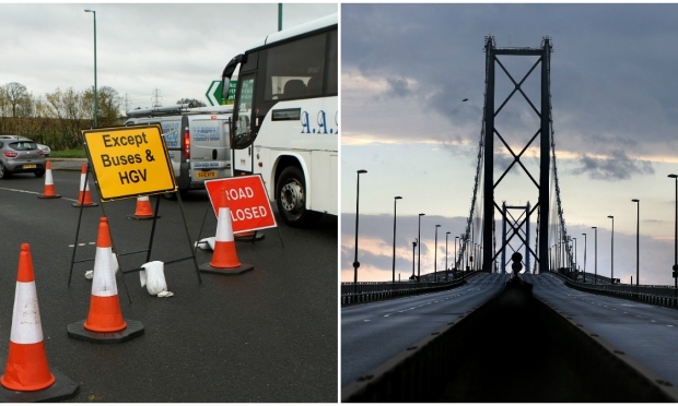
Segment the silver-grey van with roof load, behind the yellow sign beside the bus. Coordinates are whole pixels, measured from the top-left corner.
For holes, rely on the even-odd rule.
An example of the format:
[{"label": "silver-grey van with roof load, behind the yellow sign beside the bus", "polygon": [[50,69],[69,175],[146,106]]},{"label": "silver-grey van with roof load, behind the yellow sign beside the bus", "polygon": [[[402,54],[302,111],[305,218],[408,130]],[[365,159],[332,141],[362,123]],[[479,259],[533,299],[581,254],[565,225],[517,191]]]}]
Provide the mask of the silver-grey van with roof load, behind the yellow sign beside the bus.
[{"label": "silver-grey van with roof load, behind the yellow sign beside the bus", "polygon": [[160,123],[180,193],[231,177],[232,106],[188,105],[127,111],[125,126]]}]

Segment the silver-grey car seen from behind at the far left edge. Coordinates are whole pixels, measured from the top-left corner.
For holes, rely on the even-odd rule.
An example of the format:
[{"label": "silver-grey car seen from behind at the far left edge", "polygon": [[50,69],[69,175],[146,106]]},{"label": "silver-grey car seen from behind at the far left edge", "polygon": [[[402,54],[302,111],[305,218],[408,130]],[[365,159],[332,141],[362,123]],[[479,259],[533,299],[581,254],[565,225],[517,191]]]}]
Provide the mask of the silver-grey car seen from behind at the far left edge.
[{"label": "silver-grey car seen from behind at the far left edge", "polygon": [[37,144],[21,136],[0,135],[0,178],[12,174],[45,175],[45,154]]}]

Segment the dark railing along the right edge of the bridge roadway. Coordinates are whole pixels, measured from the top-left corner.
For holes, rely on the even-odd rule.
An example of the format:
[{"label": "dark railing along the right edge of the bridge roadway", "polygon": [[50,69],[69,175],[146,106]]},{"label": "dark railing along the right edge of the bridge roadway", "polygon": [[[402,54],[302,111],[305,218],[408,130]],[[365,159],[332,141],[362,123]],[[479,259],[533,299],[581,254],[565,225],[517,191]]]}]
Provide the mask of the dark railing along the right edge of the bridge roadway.
[{"label": "dark railing along the right edge of the bridge roadway", "polygon": [[599,295],[623,297],[626,299],[642,301],[651,304],[666,306],[678,308],[678,290],[673,286],[666,285],[626,285],[626,284],[594,284],[593,278],[588,278],[586,283],[573,280],[572,278],[550,272],[552,275],[563,279],[569,286],[584,291]]}]

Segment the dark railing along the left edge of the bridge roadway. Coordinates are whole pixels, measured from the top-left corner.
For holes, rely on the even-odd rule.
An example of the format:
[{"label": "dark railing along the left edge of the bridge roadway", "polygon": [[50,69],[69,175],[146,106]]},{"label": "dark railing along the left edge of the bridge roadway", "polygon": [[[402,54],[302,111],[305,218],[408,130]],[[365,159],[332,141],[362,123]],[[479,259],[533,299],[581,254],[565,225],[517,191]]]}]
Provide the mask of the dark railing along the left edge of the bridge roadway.
[{"label": "dark railing along the left edge of the bridge roadway", "polygon": [[358,284],[352,282],[342,282],[341,306],[452,289],[464,285],[466,279],[477,275],[478,273],[479,272],[471,272],[465,276],[459,275],[456,278],[447,278],[439,275],[439,279],[445,277],[445,280],[439,282],[428,280],[426,276],[422,276],[422,280],[420,282],[359,282]]}]

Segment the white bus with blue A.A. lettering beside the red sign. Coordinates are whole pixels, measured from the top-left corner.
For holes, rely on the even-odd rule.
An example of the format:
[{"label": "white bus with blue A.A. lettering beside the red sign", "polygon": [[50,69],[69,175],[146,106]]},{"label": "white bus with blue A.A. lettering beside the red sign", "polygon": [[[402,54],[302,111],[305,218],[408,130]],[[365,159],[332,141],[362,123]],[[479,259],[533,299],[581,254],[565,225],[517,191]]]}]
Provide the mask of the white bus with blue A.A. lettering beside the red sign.
[{"label": "white bus with blue A.A. lettering beside the red sign", "polygon": [[[338,214],[338,16],[264,38],[225,67],[237,73],[233,175],[260,174],[293,226]],[[224,95],[225,97],[226,95]]]}]

